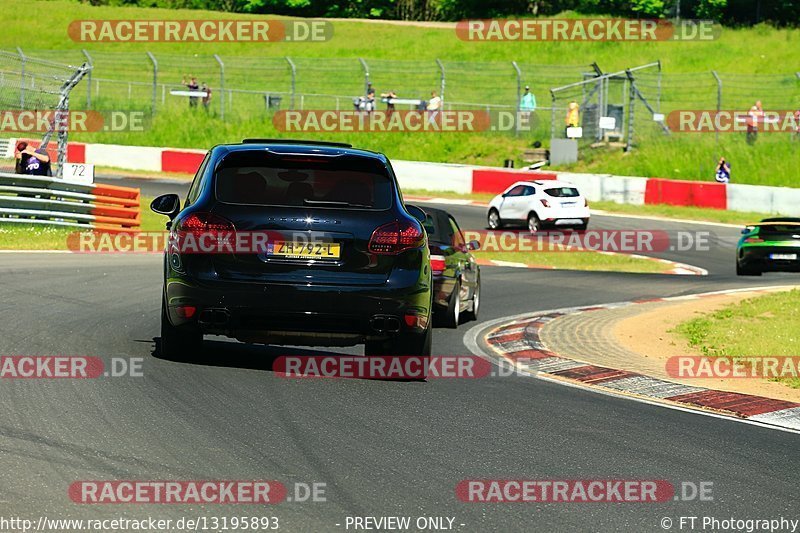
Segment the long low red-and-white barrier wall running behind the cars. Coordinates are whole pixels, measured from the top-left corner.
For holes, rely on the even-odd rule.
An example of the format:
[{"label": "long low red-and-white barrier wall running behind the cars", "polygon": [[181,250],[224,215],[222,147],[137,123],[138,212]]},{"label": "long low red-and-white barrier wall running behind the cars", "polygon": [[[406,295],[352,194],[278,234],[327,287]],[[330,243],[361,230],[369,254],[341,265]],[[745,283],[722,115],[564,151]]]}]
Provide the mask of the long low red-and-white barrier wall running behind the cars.
[{"label": "long low red-and-white barrier wall running behind the cars", "polygon": [[[53,151],[54,145],[48,150]],[[69,143],[67,160],[150,172],[194,174],[205,150]],[[55,153],[52,153],[55,157]],[[710,181],[542,172],[475,165],[392,161],[405,189],[456,193],[499,193],[520,180],[562,179],[577,185],[589,201],[634,205],[668,204],[800,216],[800,189]]]}]

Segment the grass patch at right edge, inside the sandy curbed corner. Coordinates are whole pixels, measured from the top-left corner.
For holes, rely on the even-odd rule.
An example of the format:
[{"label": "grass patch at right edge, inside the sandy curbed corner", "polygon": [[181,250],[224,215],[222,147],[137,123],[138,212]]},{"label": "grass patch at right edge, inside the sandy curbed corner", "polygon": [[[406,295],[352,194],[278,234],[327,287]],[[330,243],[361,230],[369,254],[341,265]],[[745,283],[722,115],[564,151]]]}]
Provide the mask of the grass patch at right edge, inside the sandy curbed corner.
[{"label": "grass patch at right edge, inside the sandy curbed corner", "polygon": [[[673,331],[708,357],[797,356],[800,290],[748,298],[679,324]],[[773,381],[800,388],[800,378]]]}]

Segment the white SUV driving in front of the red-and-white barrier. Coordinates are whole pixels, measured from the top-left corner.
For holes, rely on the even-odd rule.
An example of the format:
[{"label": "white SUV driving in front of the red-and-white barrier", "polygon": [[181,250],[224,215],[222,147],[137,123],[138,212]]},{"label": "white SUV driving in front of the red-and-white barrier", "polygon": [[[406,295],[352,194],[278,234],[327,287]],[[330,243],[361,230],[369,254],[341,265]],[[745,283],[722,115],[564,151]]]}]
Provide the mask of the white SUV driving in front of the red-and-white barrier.
[{"label": "white SUV driving in front of the red-and-white barrier", "polygon": [[589,225],[589,202],[571,183],[558,180],[518,181],[489,202],[490,229],[527,224],[535,233],[546,227]]}]

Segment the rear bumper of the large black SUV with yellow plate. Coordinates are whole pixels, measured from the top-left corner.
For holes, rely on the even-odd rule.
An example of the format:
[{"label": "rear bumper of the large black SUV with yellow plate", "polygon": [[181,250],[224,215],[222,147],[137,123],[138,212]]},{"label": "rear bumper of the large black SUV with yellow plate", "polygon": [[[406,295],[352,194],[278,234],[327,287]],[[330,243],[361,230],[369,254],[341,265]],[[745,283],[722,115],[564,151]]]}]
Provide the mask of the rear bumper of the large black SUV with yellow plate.
[{"label": "rear bumper of the large black SUV with yellow plate", "polygon": [[[349,346],[422,332],[431,314],[431,283],[401,286],[241,283],[167,279],[169,321],[245,342]],[[192,307],[191,316],[179,307]]]}]

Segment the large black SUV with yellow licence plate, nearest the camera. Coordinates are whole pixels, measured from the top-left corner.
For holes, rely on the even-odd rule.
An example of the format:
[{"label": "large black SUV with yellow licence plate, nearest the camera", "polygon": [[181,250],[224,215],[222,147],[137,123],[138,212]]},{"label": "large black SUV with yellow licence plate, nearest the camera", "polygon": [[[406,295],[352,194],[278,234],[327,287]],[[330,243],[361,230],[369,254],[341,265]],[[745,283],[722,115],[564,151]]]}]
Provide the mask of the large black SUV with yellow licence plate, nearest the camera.
[{"label": "large black SUV with yellow licence plate, nearest the camera", "polygon": [[[314,141],[218,145],[183,208],[167,194],[151,209],[170,218],[164,356],[198,350],[204,334],[430,355],[427,236],[383,154]],[[183,246],[185,237],[198,232],[262,239],[255,248],[191,253],[198,250]]]}]

